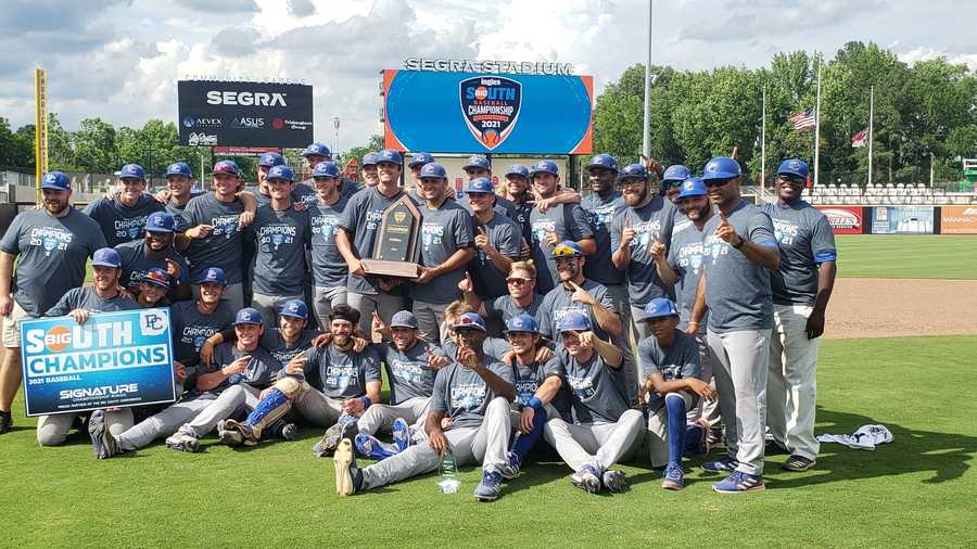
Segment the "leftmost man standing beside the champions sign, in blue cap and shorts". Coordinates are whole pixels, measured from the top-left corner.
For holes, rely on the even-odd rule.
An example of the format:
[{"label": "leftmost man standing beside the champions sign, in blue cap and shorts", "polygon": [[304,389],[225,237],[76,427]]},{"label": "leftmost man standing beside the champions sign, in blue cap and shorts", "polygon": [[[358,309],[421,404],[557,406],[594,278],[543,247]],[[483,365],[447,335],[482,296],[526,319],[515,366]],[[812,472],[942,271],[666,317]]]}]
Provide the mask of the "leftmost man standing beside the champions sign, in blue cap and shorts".
[{"label": "leftmost man standing beside the champions sign, in blue cap and shorts", "polygon": [[[21,321],[38,318],[85,282],[85,264],[105,247],[99,224],[71,205],[72,187],[61,171],[41,178],[41,209],[14,218],[0,240],[0,434],[13,424],[10,408],[21,386]],[[16,263],[16,271],[14,271]]]}]

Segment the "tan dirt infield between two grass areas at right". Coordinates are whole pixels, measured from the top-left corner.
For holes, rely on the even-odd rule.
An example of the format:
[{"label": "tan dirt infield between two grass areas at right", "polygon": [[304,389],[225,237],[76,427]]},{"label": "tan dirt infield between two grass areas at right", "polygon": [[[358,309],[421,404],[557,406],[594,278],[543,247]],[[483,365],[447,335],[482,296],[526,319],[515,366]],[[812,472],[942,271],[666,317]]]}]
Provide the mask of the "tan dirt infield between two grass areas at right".
[{"label": "tan dirt infield between two grass areas at right", "polygon": [[977,280],[838,279],[826,337],[977,334]]}]

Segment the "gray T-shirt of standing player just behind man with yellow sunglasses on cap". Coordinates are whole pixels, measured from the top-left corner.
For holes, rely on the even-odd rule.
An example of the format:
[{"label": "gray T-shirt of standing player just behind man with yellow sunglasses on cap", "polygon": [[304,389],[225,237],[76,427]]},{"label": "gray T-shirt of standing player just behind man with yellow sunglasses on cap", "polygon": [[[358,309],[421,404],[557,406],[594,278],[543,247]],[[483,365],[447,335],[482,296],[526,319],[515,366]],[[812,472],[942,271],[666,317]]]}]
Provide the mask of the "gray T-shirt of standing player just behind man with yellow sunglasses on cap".
[{"label": "gray T-shirt of standing player just behind man with yellow sunglasses on cap", "polygon": [[587,222],[586,212],[576,204],[558,204],[547,209],[545,214],[534,208],[530,214],[530,225],[533,230],[530,246],[533,248],[533,263],[537,271],[536,291],[545,294],[560,281],[556,261],[550,258],[556,246],[543,242],[546,233],[555,232],[558,242],[568,240],[579,242],[593,238],[594,231]]}]

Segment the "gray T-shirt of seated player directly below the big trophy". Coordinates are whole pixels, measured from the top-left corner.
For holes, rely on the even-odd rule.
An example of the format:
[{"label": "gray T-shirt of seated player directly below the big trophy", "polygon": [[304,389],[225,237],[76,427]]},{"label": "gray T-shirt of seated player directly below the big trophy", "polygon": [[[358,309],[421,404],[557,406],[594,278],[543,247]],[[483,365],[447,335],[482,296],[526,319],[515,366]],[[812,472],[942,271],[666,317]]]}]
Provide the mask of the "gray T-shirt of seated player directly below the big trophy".
[{"label": "gray T-shirt of seated player directly below the big trophy", "polygon": [[398,405],[410,398],[430,398],[434,392],[437,369],[428,366],[431,355],[443,357],[437,345],[418,341],[407,350],[399,350],[393,342],[373,344],[390,383],[390,404]]}]

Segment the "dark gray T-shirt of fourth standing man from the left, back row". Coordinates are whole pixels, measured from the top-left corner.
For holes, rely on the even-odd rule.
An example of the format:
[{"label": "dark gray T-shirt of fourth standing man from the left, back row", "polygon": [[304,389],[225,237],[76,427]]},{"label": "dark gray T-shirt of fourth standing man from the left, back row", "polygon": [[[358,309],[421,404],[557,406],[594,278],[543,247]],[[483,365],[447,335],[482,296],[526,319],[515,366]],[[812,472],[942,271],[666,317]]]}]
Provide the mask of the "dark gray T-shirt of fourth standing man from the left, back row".
[{"label": "dark gray T-shirt of fourth standing man from the left, back row", "polygon": [[190,280],[199,280],[208,267],[224,269],[228,284],[239,284],[244,280],[241,257],[245,234],[238,227],[243,213],[244,205],[240,200],[220,202],[212,192],[192,199],[187,204],[180,216],[182,227],[214,227],[206,237],[190,241],[186,253],[187,260],[190,261]]}]

